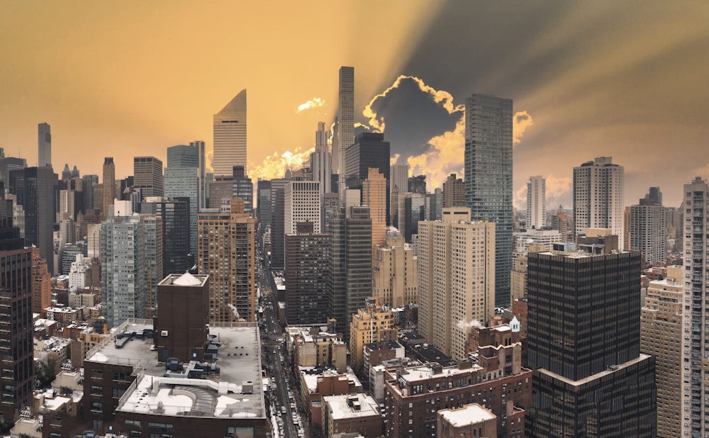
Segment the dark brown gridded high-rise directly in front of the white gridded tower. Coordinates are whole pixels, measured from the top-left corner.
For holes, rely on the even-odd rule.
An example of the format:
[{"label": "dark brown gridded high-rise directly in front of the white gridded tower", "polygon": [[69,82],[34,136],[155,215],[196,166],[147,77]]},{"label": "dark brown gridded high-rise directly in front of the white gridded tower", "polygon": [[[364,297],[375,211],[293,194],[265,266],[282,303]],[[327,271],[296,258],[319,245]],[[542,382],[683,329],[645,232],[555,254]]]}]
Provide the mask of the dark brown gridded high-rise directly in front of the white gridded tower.
[{"label": "dark brown gridded high-rise directly in front of the white gridded tower", "polygon": [[286,234],[286,321],[288,325],[327,322],[330,235],[313,232],[313,223],[296,224]]}]

